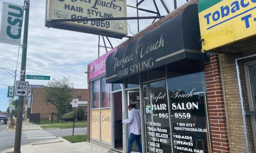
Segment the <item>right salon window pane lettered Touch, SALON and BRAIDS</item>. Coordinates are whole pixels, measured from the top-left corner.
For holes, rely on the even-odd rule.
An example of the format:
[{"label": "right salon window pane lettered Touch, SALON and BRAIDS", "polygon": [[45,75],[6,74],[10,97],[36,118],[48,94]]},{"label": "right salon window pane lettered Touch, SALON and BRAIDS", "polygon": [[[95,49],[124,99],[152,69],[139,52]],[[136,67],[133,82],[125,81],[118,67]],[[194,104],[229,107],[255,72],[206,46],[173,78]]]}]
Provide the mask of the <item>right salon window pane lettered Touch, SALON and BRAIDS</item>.
[{"label": "right salon window pane lettered Touch, SALON and BRAIDS", "polygon": [[174,153],[211,153],[205,92],[172,91],[171,124]]}]

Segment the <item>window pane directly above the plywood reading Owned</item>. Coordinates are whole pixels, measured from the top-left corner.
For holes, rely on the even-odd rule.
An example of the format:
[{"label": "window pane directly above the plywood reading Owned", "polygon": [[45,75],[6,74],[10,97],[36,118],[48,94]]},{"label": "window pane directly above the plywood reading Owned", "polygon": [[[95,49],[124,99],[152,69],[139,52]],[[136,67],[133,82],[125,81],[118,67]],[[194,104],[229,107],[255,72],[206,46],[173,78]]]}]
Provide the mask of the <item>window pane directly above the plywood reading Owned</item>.
[{"label": "window pane directly above the plywood reading Owned", "polygon": [[110,107],[110,93],[111,93],[111,84],[106,83],[106,78],[102,78],[101,82],[101,89],[102,89],[102,108]]}]

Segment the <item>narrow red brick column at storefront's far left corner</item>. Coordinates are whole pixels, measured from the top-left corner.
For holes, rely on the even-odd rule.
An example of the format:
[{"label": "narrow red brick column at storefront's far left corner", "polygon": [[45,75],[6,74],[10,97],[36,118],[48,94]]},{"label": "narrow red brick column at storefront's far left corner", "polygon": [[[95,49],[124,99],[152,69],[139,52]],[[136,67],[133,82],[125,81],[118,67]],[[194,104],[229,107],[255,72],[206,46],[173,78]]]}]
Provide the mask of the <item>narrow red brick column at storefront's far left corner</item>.
[{"label": "narrow red brick column at storefront's far left corner", "polygon": [[87,142],[90,142],[90,64],[87,65]]}]

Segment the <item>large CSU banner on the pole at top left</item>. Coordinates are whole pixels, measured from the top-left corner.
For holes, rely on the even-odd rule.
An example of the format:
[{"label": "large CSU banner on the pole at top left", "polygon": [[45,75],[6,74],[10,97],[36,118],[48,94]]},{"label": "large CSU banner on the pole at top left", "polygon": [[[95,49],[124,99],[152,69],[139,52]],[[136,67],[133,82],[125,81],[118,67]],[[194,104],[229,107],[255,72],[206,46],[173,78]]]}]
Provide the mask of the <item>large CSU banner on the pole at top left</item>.
[{"label": "large CSU banner on the pole at top left", "polygon": [[23,6],[3,2],[0,42],[20,45]]}]

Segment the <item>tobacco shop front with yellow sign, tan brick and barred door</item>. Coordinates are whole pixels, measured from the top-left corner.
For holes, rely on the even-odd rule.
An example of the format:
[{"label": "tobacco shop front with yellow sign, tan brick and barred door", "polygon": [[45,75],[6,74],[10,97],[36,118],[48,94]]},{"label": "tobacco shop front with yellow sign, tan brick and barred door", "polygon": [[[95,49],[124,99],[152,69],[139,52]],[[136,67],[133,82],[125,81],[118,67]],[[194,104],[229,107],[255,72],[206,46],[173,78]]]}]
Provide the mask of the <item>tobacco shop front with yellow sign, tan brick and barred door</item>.
[{"label": "tobacco shop front with yellow sign, tan brick and barred door", "polygon": [[218,54],[230,152],[255,153],[256,1],[200,0],[198,12],[203,51]]}]

